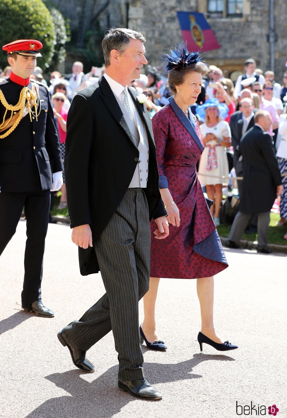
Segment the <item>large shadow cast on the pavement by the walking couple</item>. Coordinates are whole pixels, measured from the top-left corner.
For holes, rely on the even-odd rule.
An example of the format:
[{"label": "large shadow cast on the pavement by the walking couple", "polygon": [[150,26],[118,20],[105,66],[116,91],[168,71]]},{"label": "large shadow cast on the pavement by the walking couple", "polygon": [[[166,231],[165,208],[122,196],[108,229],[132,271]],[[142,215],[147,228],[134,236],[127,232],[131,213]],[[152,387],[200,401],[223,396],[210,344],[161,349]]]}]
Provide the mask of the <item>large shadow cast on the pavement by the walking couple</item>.
[{"label": "large shadow cast on the pavement by the walking couple", "polygon": [[[177,364],[144,363],[145,375],[147,380],[155,385],[196,379],[202,376],[191,374],[192,368],[206,360],[234,361],[235,359],[219,354],[194,354],[192,359]],[[26,418],[111,418],[129,402],[136,400],[130,394],[117,389],[117,370],[118,366],[113,366],[91,383],[82,379],[80,377],[82,373],[78,370],[46,376],[47,380],[55,383],[71,396],[51,398]]]}]

